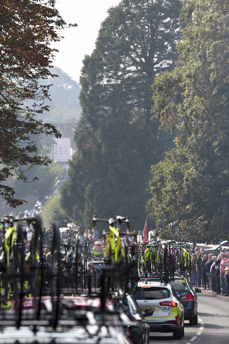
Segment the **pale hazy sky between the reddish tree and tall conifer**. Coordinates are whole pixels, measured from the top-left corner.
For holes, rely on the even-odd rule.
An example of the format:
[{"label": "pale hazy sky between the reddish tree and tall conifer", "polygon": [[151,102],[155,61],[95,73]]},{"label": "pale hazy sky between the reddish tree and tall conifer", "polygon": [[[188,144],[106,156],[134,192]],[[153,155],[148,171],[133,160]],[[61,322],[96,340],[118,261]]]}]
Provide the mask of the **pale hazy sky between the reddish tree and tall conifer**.
[{"label": "pale hazy sky between the reddish tree and tall conifer", "polygon": [[56,8],[62,18],[69,23],[77,23],[77,28],[65,29],[65,38],[51,46],[59,50],[54,65],[79,82],[80,69],[85,54],[91,54],[95,47],[100,23],[107,17],[107,9],[119,0],[59,0]]}]

